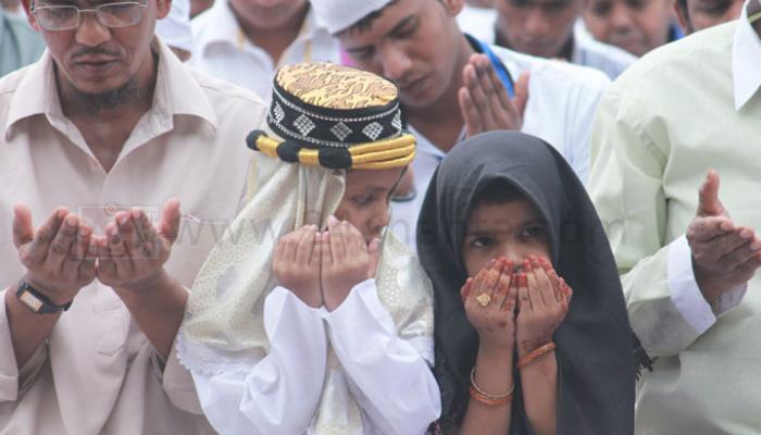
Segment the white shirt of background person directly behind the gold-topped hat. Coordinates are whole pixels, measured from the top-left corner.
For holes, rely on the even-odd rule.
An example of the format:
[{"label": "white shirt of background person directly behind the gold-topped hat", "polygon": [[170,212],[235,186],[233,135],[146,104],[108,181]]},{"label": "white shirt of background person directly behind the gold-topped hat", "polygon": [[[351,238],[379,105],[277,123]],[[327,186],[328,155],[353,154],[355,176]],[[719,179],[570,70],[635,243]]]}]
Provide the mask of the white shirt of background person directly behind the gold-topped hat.
[{"label": "white shirt of background person directly behind the gold-topped hat", "polygon": [[279,61],[274,61],[266,51],[246,38],[227,0],[217,0],[190,24],[190,66],[252,90],[265,100],[270,99],[273,77],[279,65],[309,61],[340,63],[338,41],[317,25],[311,8],[299,36],[283,52]]}]

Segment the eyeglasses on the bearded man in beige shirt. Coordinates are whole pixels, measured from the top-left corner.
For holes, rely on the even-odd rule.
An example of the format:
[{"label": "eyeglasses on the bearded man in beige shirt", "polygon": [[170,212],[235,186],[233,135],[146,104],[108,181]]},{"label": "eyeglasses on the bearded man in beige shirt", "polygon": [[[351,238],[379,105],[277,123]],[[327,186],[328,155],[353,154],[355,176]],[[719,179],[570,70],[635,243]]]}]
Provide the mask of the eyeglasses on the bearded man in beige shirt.
[{"label": "eyeglasses on the bearded man in beige shirt", "polygon": [[82,14],[93,12],[98,22],[107,27],[134,26],[142,17],[146,1],[123,1],[117,3],[98,4],[92,9],[79,9],[75,5],[32,5],[32,14],[40,27],[46,30],[71,30],[82,24]]}]

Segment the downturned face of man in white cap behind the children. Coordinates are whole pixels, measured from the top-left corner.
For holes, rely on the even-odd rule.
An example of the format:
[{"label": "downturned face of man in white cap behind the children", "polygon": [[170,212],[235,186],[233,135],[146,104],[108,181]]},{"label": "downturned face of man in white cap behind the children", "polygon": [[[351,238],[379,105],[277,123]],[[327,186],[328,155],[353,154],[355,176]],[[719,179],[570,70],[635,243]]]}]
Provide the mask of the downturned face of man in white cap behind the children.
[{"label": "downturned face of man in white cap behind the children", "polygon": [[[338,35],[357,66],[399,86],[401,101],[426,108],[453,84],[462,36],[454,15],[463,0],[398,0],[369,28]],[[445,4],[446,3],[446,4]]]}]

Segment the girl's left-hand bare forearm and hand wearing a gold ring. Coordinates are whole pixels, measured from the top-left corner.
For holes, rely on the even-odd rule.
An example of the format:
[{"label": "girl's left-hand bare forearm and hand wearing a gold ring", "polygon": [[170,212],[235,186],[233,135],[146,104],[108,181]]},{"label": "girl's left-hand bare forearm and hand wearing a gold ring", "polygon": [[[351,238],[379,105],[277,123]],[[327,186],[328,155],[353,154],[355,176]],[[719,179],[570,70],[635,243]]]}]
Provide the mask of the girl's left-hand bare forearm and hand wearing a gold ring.
[{"label": "girl's left-hand bare forearm and hand wearing a gold ring", "polygon": [[512,270],[511,262],[492,260],[461,290],[467,320],[478,332],[471,400],[461,435],[510,433],[517,293],[511,282]]}]

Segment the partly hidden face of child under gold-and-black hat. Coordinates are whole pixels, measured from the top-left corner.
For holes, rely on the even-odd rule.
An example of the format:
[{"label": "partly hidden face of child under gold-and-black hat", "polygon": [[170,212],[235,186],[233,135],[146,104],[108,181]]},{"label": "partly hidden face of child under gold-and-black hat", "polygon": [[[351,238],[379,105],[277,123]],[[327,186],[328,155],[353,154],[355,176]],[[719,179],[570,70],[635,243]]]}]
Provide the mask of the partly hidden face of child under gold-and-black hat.
[{"label": "partly hidden face of child under gold-and-black hat", "polygon": [[402,169],[348,171],[336,217],[354,225],[366,243],[380,237],[388,225],[388,201],[401,174]]}]

